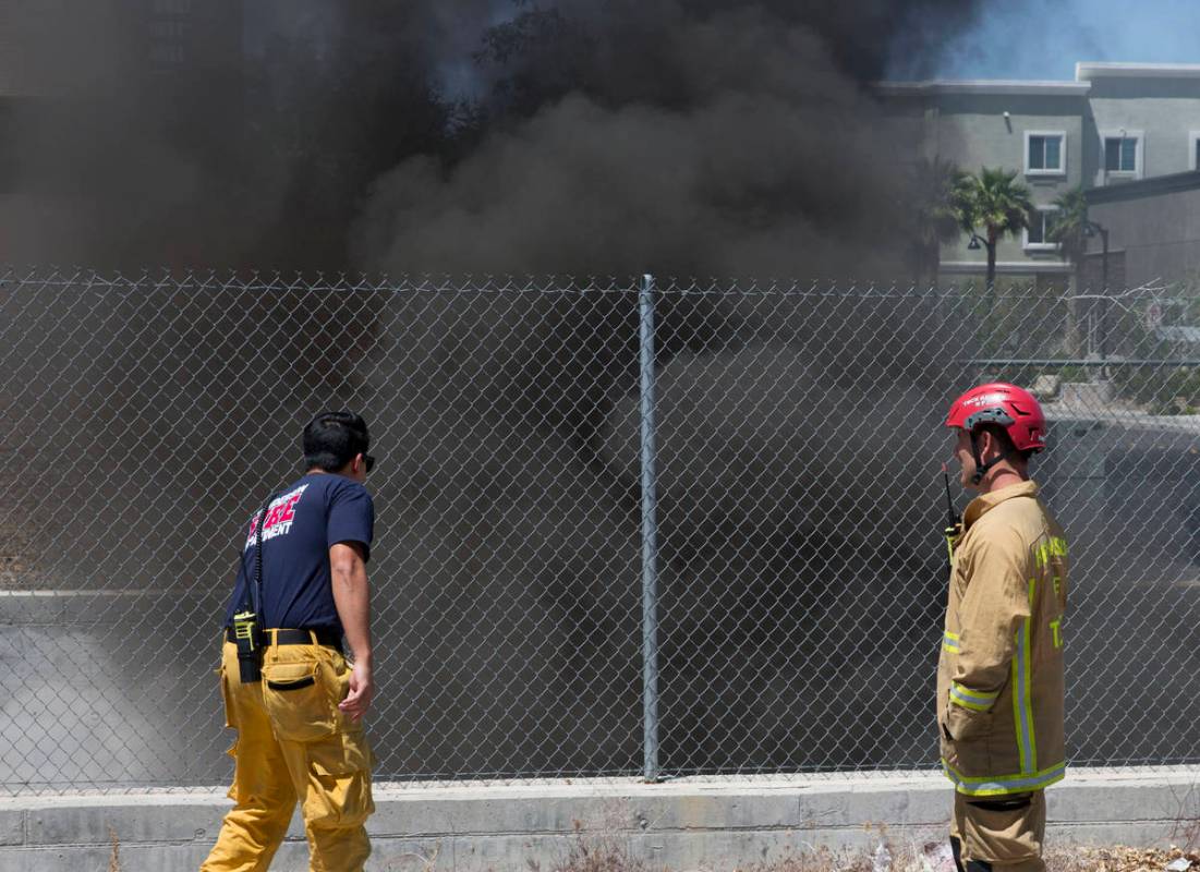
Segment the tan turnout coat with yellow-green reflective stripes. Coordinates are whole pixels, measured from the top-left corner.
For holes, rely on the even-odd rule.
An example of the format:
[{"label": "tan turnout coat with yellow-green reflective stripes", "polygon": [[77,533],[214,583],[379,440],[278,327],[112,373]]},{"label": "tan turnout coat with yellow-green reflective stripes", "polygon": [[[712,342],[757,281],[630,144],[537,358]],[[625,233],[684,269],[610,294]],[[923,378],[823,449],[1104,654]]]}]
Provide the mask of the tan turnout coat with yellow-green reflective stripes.
[{"label": "tan turnout coat with yellow-green reflective stripes", "polygon": [[937,667],[942,768],[959,793],[1063,777],[1067,542],[1032,481],[976,498],[953,547]]}]

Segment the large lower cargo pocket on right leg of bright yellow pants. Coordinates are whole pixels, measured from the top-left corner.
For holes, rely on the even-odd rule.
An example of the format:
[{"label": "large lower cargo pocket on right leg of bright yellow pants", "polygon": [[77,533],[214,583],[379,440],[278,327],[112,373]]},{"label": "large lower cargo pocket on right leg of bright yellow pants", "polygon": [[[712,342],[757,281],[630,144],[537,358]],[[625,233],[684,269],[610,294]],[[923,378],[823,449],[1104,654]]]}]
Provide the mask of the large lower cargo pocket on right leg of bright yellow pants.
[{"label": "large lower cargo pocket on right leg of bright yellow pants", "polygon": [[305,748],[308,790],[304,818],[310,826],[335,829],[361,824],[374,811],[371,750],[361,733],[338,734]]}]

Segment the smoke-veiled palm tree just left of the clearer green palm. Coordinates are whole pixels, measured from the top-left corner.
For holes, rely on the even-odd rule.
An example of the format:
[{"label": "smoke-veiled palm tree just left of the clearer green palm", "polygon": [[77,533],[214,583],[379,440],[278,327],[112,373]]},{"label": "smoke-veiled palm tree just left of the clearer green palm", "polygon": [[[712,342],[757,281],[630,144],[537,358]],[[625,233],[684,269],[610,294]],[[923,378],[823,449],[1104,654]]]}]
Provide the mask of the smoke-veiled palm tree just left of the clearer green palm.
[{"label": "smoke-veiled palm tree just left of the clearer green palm", "polygon": [[962,187],[967,174],[940,157],[920,158],[908,175],[908,206],[913,233],[907,259],[913,282],[936,281],[942,245],[959,237],[962,225]]}]

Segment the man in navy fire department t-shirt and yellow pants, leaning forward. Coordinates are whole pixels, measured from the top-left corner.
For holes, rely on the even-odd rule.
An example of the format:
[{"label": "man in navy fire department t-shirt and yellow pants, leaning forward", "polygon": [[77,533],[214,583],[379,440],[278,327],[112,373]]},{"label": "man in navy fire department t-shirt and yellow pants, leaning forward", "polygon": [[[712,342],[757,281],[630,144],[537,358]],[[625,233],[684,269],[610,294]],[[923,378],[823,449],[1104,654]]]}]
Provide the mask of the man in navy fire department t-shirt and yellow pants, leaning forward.
[{"label": "man in navy fire department t-shirt and yellow pants, leaning forward", "polygon": [[[317,415],[304,429],[307,473],[257,510],[245,531],[221,666],[226,726],[238,730],[229,790],[236,805],[202,872],[265,870],[298,800],[313,868],[358,872],[371,853],[364,822],[374,811],[372,757],[362,732],[374,691],[368,446],[358,415]],[[251,597],[247,585],[260,595]],[[259,681],[241,680],[233,630],[234,614],[251,603],[265,627]],[[343,635],[353,660],[343,656]]]}]

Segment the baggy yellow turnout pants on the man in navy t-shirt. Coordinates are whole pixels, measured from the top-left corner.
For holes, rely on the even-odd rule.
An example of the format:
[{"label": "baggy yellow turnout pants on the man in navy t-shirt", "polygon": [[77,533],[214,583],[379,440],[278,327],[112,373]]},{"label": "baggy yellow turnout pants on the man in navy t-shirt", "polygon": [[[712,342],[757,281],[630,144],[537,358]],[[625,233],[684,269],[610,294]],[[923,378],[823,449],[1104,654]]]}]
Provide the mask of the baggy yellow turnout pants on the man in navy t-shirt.
[{"label": "baggy yellow turnout pants on the man in navy t-shirt", "polygon": [[298,800],[313,872],[360,872],[371,853],[372,757],[361,722],[337,709],[349,690],[346,660],[320,645],[270,645],[263,680],[242,684],[238,647],[226,642],[221,686],[226,726],[238,730],[236,805],[200,872],[264,872]]}]

